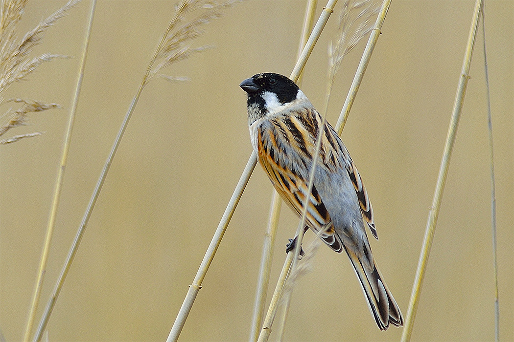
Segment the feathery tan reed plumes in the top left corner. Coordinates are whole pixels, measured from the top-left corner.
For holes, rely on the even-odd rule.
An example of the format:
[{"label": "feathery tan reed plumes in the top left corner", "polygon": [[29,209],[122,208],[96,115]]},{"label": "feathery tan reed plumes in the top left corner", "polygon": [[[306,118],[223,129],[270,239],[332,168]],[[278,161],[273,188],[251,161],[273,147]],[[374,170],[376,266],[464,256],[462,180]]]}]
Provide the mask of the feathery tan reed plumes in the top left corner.
[{"label": "feathery tan reed plumes in the top left corner", "polygon": [[[14,83],[26,78],[45,62],[54,58],[66,58],[60,54],[44,53],[37,57],[30,57],[32,50],[41,44],[46,31],[60,18],[75,7],[81,0],[71,0],[57,12],[27,32],[23,38],[17,38],[17,26],[20,23],[28,0],[3,1],[0,9],[0,106],[14,102],[21,104],[19,108],[10,108],[1,115],[3,123],[0,126],[0,136],[12,128],[26,126],[28,114],[41,112],[52,108],[60,108],[57,104],[45,104],[28,99],[5,99],[5,91]],[[16,135],[0,140],[0,144],[9,144],[18,140],[43,134],[43,132]]]}]

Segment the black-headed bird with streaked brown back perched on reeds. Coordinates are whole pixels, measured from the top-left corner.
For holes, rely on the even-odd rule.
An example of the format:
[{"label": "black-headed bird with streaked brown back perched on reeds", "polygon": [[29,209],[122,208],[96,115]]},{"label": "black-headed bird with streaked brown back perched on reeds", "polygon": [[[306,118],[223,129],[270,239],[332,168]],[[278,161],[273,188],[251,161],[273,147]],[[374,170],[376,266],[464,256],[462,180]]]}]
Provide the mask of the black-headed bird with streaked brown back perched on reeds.
[{"label": "black-headed bird with streaked brown back perched on reeds", "polygon": [[[371,202],[339,135],[284,75],[256,74],[240,87],[247,93],[251,145],[273,187],[299,217],[307,203],[305,230],[322,230],[320,238],[326,245],[337,253],[346,252],[378,328],[402,326],[400,308],[366,235],[368,227],[378,239]],[[322,134],[321,148],[313,165],[318,134]],[[313,167],[314,183],[307,193]]]}]

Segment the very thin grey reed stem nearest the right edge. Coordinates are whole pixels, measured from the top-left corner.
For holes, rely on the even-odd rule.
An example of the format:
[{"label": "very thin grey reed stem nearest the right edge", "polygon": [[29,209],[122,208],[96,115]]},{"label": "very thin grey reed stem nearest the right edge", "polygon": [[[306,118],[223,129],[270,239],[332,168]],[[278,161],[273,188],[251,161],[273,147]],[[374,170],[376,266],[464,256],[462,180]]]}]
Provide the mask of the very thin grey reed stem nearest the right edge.
[{"label": "very thin grey reed stem nearest the right edge", "polygon": [[492,237],[492,272],[494,279],[494,340],[500,340],[500,298],[498,297],[498,261],[496,251],[496,194],[494,186],[494,153],[492,144],[492,119],[491,119],[491,93],[489,91],[489,70],[487,67],[487,50],[485,44],[485,3],[482,3],[482,37],[484,43],[484,71],[487,98],[487,132],[489,136],[489,152],[490,152],[490,172],[491,172],[491,237]]}]

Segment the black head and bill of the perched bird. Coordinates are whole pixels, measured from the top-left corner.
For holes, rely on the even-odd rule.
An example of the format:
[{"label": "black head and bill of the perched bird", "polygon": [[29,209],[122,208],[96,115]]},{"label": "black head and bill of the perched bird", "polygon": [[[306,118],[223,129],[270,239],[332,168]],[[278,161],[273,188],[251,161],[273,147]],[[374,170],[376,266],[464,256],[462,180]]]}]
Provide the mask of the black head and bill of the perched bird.
[{"label": "black head and bill of the perched bird", "polygon": [[248,105],[251,99],[259,101],[256,97],[262,97],[265,92],[276,94],[283,105],[294,100],[299,90],[298,86],[286,76],[270,72],[253,75],[245,79],[240,87],[248,93]]}]

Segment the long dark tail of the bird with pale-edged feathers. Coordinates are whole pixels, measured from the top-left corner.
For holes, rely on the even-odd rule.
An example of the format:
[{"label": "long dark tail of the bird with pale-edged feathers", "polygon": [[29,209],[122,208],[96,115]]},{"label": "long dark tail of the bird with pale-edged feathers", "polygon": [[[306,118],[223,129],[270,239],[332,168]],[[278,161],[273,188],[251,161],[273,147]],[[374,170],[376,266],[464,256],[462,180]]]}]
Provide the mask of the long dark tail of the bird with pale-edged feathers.
[{"label": "long dark tail of the bird with pale-edged feathers", "polygon": [[[371,267],[369,267],[363,265],[362,261],[352,250],[348,250],[346,246],[344,246],[344,250],[352,261],[378,328],[380,330],[387,330],[390,324],[401,327],[403,325],[403,316],[401,315],[400,308],[396,304],[396,300],[394,300],[386,283],[382,280],[382,274],[375,264],[373,255],[371,253],[365,255],[370,261],[369,266]],[[366,261],[364,261],[364,264],[368,264]]]}]

